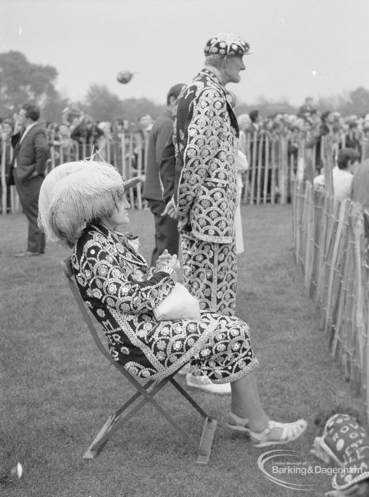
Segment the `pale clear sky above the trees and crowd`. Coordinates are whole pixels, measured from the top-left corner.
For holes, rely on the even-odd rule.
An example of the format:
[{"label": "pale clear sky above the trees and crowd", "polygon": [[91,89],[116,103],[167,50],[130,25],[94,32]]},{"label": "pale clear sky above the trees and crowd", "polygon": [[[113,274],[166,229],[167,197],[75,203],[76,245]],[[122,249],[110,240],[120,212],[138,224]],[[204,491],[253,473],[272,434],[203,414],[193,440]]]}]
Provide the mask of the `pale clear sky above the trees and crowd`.
[{"label": "pale clear sky above the trees and crowd", "polygon": [[[0,0],[0,52],[58,71],[56,88],[83,101],[91,84],[120,99],[165,103],[203,67],[218,32],[244,38],[239,103],[369,89],[369,0]],[[134,73],[127,84],[117,74]]]}]

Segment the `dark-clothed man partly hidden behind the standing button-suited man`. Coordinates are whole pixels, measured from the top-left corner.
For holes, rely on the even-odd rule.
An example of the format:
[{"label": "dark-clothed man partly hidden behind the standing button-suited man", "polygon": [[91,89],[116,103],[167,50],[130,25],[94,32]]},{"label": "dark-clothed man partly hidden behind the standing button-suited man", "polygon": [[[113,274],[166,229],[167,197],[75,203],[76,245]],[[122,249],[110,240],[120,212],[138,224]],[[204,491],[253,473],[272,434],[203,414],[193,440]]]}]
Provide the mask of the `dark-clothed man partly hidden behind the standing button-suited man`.
[{"label": "dark-clothed man partly hidden behind the standing button-suited man", "polygon": [[169,90],[167,108],[154,122],[147,146],[146,175],[142,196],[148,200],[150,210],[155,217],[155,248],[150,264],[154,267],[157,258],[165,249],[171,255],[178,254],[179,249],[180,234],[177,229],[178,221],[169,216],[162,216],[165,209],[165,202],[159,178],[159,165],[164,147],[168,139],[172,137],[173,108],[184,86],[184,84],[176,84]]}]

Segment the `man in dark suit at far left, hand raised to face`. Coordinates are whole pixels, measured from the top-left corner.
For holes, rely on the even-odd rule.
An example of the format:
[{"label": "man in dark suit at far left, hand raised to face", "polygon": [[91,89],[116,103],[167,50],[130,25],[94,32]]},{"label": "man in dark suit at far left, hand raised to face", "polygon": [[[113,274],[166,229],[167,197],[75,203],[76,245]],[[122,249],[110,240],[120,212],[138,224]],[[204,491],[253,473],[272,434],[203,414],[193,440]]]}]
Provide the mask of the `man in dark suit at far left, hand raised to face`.
[{"label": "man in dark suit at far left, hand raised to face", "polygon": [[28,242],[15,257],[40,255],[45,251],[45,235],[37,225],[38,196],[45,177],[49,146],[46,131],[38,123],[39,109],[25,103],[19,111],[11,145],[14,149],[8,185],[15,184],[23,212],[28,219]]}]

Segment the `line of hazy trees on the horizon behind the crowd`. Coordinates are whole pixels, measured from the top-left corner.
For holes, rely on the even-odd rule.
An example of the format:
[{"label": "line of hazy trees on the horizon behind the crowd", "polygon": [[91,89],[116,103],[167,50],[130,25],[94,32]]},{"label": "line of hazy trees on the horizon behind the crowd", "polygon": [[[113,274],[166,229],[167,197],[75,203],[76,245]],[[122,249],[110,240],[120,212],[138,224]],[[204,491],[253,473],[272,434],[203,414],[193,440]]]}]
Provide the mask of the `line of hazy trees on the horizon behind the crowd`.
[{"label": "line of hazy trees on the horizon behind the crowd", "polygon": [[[63,109],[72,102],[61,95],[55,87],[58,72],[53,66],[33,64],[24,54],[9,51],[0,54],[0,117],[12,116],[25,101],[35,103],[42,109],[46,121],[60,122]],[[121,100],[105,85],[92,83],[82,102],[75,102],[87,114],[98,121],[112,121],[123,117],[136,123],[140,116],[150,114],[156,119],[165,108],[147,98],[128,98]],[[253,104],[239,100],[236,114],[248,113],[258,108],[268,116],[277,112],[294,114],[296,107],[287,101],[275,102],[261,97]],[[342,115],[364,116],[369,113],[369,90],[362,87],[345,95],[327,96],[319,100],[320,110],[335,110]]]}]

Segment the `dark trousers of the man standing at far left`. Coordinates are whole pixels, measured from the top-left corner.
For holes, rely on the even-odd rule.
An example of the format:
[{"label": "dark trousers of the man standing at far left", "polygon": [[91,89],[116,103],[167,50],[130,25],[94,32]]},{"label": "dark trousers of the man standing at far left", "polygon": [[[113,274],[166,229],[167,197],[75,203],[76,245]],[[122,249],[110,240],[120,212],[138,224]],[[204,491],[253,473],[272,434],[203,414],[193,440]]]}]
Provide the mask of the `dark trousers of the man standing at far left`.
[{"label": "dark trousers of the man standing at far left", "polygon": [[30,252],[45,251],[45,234],[37,225],[38,216],[38,196],[43,176],[35,176],[24,182],[18,180],[16,168],[14,169],[14,182],[18,192],[19,200],[23,208],[23,212],[28,219],[28,241],[27,250]]}]

